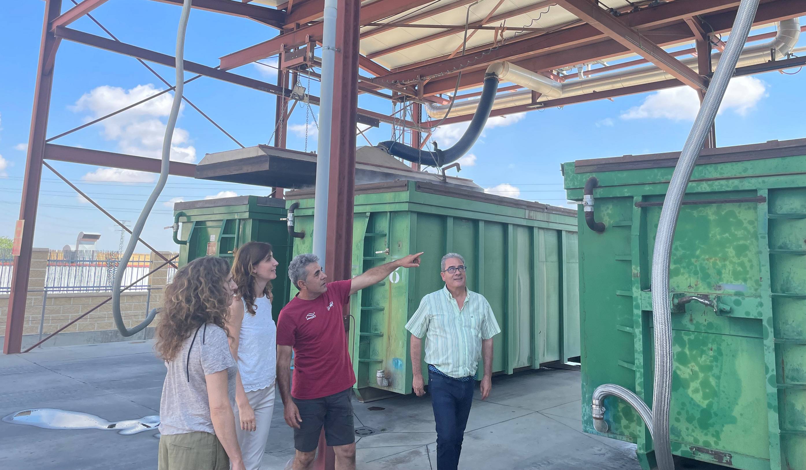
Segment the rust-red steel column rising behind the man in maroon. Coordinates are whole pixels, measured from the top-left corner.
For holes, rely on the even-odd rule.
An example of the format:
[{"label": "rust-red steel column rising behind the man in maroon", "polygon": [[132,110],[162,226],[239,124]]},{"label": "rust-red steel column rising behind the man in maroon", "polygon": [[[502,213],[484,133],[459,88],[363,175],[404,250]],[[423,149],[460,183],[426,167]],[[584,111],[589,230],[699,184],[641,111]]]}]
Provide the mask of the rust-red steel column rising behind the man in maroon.
[{"label": "rust-red steel column rising behind the man in maroon", "polygon": [[336,19],[325,260],[333,281],[351,277],[360,7],[360,0],[339,0]]}]

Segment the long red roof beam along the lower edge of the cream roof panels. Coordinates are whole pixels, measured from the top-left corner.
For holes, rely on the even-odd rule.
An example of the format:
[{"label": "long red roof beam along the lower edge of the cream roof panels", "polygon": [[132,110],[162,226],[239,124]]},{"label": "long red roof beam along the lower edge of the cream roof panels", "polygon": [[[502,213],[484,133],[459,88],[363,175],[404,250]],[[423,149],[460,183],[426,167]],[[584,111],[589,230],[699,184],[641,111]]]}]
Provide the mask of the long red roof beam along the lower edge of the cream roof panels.
[{"label": "long red roof beam along the lower edge of the cream roof panels", "polygon": [[[738,4],[737,0],[675,0],[675,2],[667,2],[653,8],[625,14],[620,18],[629,27],[642,30],[654,29],[663,25],[677,23],[692,15],[703,15],[708,12],[725,10]],[[405,70],[393,71],[393,73],[384,77],[377,77],[375,82],[382,85],[388,82],[416,80],[418,77],[430,77],[431,75],[448,71],[451,71],[449,73],[458,73],[460,69],[463,72],[467,72],[469,69],[483,69],[488,64],[498,60],[525,59],[546,52],[554,52],[573,48],[580,44],[605,40],[606,38],[604,33],[588,24],[552,33],[536,33],[534,36],[524,36],[526,36],[526,39],[504,44],[495,50],[488,50],[489,46],[484,46],[483,48],[468,51],[465,56],[451,59],[443,56],[430,64],[423,64],[422,66],[412,64],[411,66],[406,66]],[[476,51],[480,52],[481,50],[487,53],[484,56],[475,54]]]}]

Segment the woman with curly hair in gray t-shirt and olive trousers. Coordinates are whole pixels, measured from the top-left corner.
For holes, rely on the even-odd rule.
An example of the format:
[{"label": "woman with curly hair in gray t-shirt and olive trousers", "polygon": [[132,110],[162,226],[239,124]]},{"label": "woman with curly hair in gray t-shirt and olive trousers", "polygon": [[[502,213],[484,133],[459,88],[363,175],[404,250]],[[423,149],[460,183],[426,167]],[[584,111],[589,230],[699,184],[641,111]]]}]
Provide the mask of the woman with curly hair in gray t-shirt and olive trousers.
[{"label": "woman with curly hair in gray t-shirt and olive trousers", "polygon": [[236,287],[229,268],[199,258],[165,288],[155,346],[168,368],[159,470],[244,470],[232,414],[238,367],[226,331]]}]

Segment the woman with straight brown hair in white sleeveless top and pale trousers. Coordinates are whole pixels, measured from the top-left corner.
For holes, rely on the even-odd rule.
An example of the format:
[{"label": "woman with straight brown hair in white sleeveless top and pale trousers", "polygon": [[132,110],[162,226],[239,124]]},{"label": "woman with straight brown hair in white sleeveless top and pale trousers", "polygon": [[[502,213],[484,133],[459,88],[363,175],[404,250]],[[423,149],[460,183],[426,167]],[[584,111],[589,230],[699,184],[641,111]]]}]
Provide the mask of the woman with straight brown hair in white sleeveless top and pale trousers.
[{"label": "woman with straight brown hair in white sleeveless top and pale trousers", "polygon": [[277,277],[272,245],[250,242],[239,247],[232,264],[238,285],[230,308],[232,356],[238,361],[235,378],[235,430],[247,470],[258,470],[274,411],[276,335],[272,318],[272,279]]}]

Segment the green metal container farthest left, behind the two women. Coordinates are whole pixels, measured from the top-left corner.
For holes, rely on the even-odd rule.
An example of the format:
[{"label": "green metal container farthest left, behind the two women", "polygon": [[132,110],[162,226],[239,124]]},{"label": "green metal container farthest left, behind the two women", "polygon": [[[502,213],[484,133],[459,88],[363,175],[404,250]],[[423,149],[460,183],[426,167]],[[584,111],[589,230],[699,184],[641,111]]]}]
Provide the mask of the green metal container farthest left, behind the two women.
[{"label": "green metal container farthest left, behind the two women", "polygon": [[174,217],[181,223],[179,264],[202,256],[220,256],[232,264],[237,247],[248,242],[272,243],[279,263],[272,281],[274,319],[289,301],[289,242],[285,201],[260,196],[177,202]]}]

